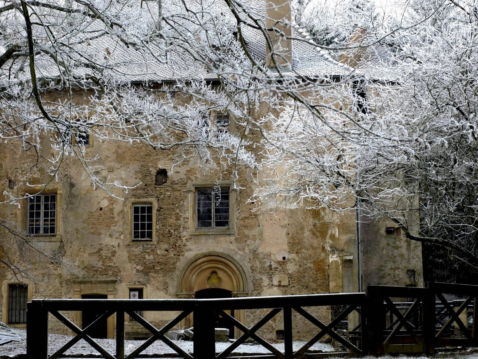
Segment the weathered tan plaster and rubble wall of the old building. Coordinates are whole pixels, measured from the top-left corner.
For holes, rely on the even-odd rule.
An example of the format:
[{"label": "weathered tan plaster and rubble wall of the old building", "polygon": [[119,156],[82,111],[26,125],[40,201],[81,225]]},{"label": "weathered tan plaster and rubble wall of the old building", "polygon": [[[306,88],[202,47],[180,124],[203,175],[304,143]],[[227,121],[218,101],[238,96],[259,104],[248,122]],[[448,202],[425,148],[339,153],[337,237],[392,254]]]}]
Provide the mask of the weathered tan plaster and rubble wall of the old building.
[{"label": "weathered tan plaster and rubble wall of the old building", "polygon": [[[254,134],[251,136],[254,137]],[[0,144],[3,158],[0,167],[1,192],[8,190],[8,179],[15,183],[28,181],[40,184],[46,177],[42,171],[34,174],[31,170],[33,157],[11,146],[9,143]],[[65,159],[60,171],[48,185],[48,188],[61,193],[58,199],[59,235],[32,240],[34,244],[41,243],[44,248],[56,251],[58,257],[71,263],[71,271],[62,268],[58,262],[36,255],[26,258],[31,265],[29,273],[37,279],[32,284],[33,298],[73,298],[93,291],[78,289],[75,292],[78,280],[113,283],[114,289],[109,297],[114,298],[127,298],[128,287],[145,288],[145,297],[150,299],[176,298],[178,278],[186,263],[209,252],[220,253],[237,261],[246,277],[244,295],[357,290],[355,213],[340,214],[325,208],[288,208],[273,214],[252,212],[255,207],[249,198],[255,183],[250,170],[239,167],[240,189],[236,194],[236,216],[231,218],[236,223],[236,233],[190,235],[188,186],[192,182],[215,182],[221,176],[229,179],[230,170],[205,174],[189,163],[176,165],[171,170],[175,156],[173,150],[155,151],[139,144],[99,142],[93,139],[86,152],[87,156],[99,157],[93,165],[95,175],[108,182],[118,180],[126,186],[141,184],[130,189],[124,200],[116,199],[92,186],[78,159]],[[155,174],[160,168],[167,169],[168,178],[162,186],[155,186]],[[28,189],[16,185],[8,191],[15,196],[22,196]],[[135,243],[130,239],[128,203],[145,198],[153,199],[157,204],[155,238],[149,243]],[[0,213],[25,228],[25,201],[21,201],[21,204],[21,208],[3,204]],[[379,235],[382,224],[376,224],[377,229],[374,225],[370,224],[365,232],[382,238]],[[38,242],[39,239],[42,242]],[[401,260],[409,260],[407,258],[418,253],[419,248],[391,243],[393,250],[399,253],[394,266],[390,262],[380,264],[383,253],[389,250],[386,247],[389,243],[380,240],[383,242],[381,247],[373,244],[366,246],[366,255],[371,259],[369,262],[364,261],[364,267],[383,267],[380,280],[390,283],[392,279],[392,282],[396,282],[405,275]],[[375,251],[372,251],[373,248]],[[377,255],[376,250],[379,248],[380,254]],[[15,253],[15,248],[10,249]],[[394,256],[390,254],[389,257]],[[21,262],[22,258],[16,258],[16,261]],[[421,273],[421,267],[413,268]],[[391,273],[393,277],[389,277]],[[417,274],[418,279],[420,275]],[[3,267],[0,267],[0,279],[3,286],[14,281],[9,270]],[[0,301],[5,301],[4,292]],[[326,318],[328,310],[320,308],[313,313]],[[255,323],[257,314],[256,311],[246,313],[246,324]],[[147,313],[146,318],[153,324],[161,325],[174,316],[174,313]],[[73,318],[73,314],[70,317]],[[75,319],[78,320],[78,316]],[[278,315],[264,326],[262,334],[273,338],[275,330],[282,329],[282,325],[282,317]],[[55,332],[68,332],[57,321],[52,320],[50,326]],[[294,333],[298,338],[310,336],[310,327],[297,318]],[[109,333],[113,333],[112,330],[109,328]],[[126,330],[138,332],[141,328],[137,323],[129,322]]]}]

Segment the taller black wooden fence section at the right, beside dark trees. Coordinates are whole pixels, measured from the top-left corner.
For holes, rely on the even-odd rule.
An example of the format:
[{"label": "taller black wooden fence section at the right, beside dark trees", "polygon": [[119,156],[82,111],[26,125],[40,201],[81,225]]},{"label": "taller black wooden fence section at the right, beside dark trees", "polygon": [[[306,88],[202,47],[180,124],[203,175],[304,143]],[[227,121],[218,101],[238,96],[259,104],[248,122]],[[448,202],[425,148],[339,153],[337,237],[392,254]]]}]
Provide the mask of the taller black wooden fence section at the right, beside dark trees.
[{"label": "taller black wooden fence section at the right, beside dark trees", "polygon": [[[444,294],[461,299],[447,301]],[[435,347],[478,347],[477,297],[476,285],[427,282],[425,288],[369,286],[370,353],[431,354]],[[410,305],[401,305],[397,298],[407,298]],[[462,313],[467,314],[466,324],[459,317]]]}]

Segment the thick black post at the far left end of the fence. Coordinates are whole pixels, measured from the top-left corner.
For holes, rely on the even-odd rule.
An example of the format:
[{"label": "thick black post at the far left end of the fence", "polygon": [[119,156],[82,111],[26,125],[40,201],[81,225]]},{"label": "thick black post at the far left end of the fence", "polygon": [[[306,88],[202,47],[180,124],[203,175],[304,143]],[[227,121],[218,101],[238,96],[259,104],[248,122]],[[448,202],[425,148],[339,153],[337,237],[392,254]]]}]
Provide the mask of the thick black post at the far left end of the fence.
[{"label": "thick black post at the far left end of the fence", "polygon": [[48,311],[40,300],[27,303],[27,358],[48,356]]}]

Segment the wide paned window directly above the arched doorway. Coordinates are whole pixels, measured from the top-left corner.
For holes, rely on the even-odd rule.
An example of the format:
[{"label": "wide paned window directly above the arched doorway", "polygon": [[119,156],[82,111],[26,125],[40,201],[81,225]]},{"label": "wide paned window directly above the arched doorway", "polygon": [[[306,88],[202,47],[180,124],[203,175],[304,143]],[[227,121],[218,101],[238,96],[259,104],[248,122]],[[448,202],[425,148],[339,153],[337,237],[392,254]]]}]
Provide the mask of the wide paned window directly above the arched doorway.
[{"label": "wide paned window directly above the arched doorway", "polygon": [[229,227],[229,188],[196,189],[196,227]]}]

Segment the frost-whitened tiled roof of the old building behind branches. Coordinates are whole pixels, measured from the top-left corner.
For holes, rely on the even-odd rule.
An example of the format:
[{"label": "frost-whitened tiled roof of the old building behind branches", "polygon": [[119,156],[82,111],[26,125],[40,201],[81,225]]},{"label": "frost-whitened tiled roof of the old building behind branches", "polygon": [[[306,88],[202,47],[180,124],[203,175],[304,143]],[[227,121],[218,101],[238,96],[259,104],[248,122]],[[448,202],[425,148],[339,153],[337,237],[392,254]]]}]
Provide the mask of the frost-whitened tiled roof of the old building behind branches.
[{"label": "frost-whitened tiled roof of the old building behind branches", "polygon": [[[211,1],[211,4],[217,4],[217,0]],[[257,0],[250,2],[257,6]],[[219,3],[222,4],[220,6],[225,6],[224,4],[226,4],[225,1]],[[261,1],[261,6],[253,7],[251,11],[251,15],[259,19],[260,22],[264,21],[264,6],[265,1],[263,1],[263,4]],[[227,9],[224,10],[226,11]],[[245,15],[242,14],[242,16]],[[231,19],[231,21],[235,20]],[[98,30],[101,26],[103,26],[102,23],[98,21]],[[241,30],[248,50],[256,60],[262,62],[266,55],[266,43],[261,31],[247,25],[243,25]],[[293,26],[292,36],[293,71],[291,75],[323,77],[348,76],[351,73],[359,73],[369,78],[384,79],[390,77],[390,72],[387,71],[389,71],[391,62],[382,61],[383,56],[380,54],[378,47],[367,47],[366,51],[363,51],[363,55],[368,56],[367,61],[354,64],[356,65],[354,69],[353,65],[350,67],[348,65],[351,64],[346,65],[337,62],[324,52],[319,51],[313,45],[309,36],[299,26]],[[127,47],[120,41],[113,39],[109,34],[105,34],[89,44],[77,45],[76,50],[101,66],[111,67],[112,73],[115,73],[116,76],[120,75],[120,78],[129,81],[168,81],[214,77],[214,74],[208,73],[204,63],[195,60],[185,49],[178,47],[175,47],[166,58],[164,51],[160,51],[159,48],[158,51],[152,48],[151,52],[137,50],[132,46]],[[371,51],[379,51],[379,53],[375,54]],[[383,53],[386,54],[386,52]],[[37,56],[36,65],[37,76],[39,77],[58,76],[60,74],[59,68],[46,55]],[[382,65],[383,70],[381,69]],[[75,74],[78,76],[94,73],[95,71],[77,64],[75,68]],[[25,71],[28,71],[28,67],[25,67]],[[107,74],[108,71],[104,72],[102,76],[108,76]],[[28,72],[24,72],[22,77],[27,77],[28,75]],[[5,78],[5,74],[3,74],[3,77]]]}]

